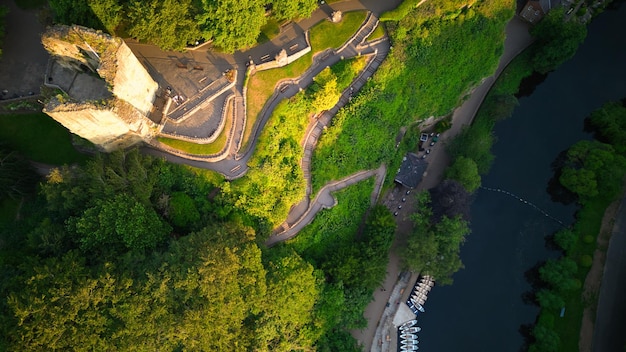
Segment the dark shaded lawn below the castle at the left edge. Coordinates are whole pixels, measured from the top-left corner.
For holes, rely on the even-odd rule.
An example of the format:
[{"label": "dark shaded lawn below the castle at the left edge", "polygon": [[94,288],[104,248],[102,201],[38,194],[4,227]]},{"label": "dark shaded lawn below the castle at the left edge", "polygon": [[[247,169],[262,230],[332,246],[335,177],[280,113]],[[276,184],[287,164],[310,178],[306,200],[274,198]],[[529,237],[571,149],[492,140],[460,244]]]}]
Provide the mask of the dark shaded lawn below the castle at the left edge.
[{"label": "dark shaded lawn below the castle at the left edge", "polygon": [[70,132],[44,113],[0,115],[0,141],[42,163],[62,165],[87,159],[72,146]]}]

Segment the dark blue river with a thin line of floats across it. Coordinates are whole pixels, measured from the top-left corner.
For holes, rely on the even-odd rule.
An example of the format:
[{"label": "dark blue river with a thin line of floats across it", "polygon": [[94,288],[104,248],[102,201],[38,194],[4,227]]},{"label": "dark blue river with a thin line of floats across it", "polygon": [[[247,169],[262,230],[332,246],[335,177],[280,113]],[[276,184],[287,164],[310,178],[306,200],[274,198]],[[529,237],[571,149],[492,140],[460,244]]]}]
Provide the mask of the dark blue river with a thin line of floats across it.
[{"label": "dark blue river with a thin line of floats across it", "polygon": [[[573,205],[546,192],[556,156],[580,139],[583,120],[609,100],[626,97],[626,5],[607,10],[589,25],[576,56],[552,72],[513,116],[496,126],[496,160],[483,186],[501,188],[534,203],[566,225]],[[481,189],[472,206],[472,234],[462,247],[465,269],[454,284],[435,287],[419,317],[420,351],[517,352],[520,326],[532,324],[538,308],[525,304],[524,273],[557,255],[544,237],[560,225],[503,193]]]}]

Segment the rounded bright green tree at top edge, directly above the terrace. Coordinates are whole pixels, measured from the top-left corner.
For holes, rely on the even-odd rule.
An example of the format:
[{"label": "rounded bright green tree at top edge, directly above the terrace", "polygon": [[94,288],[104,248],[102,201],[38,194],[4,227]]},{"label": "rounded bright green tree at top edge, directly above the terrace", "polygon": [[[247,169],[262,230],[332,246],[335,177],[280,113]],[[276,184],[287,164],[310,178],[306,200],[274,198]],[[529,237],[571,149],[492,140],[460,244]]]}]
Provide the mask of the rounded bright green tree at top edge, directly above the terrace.
[{"label": "rounded bright green tree at top edge, directly above the terrace", "polygon": [[225,52],[247,48],[265,24],[262,0],[200,0],[197,23],[204,38],[213,40]]}]

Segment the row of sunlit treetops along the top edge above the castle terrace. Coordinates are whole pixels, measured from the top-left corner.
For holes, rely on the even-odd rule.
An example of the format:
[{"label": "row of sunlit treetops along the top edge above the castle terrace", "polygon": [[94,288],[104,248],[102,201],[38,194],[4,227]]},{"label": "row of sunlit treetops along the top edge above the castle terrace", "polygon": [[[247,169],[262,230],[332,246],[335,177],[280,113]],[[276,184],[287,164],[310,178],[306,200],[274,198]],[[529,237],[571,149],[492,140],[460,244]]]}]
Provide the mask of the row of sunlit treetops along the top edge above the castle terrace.
[{"label": "row of sunlit treetops along the top edge above the castle terrace", "polygon": [[315,0],[50,0],[54,19],[131,36],[164,50],[212,40],[226,52],[250,47],[268,14],[278,21],[306,18]]}]

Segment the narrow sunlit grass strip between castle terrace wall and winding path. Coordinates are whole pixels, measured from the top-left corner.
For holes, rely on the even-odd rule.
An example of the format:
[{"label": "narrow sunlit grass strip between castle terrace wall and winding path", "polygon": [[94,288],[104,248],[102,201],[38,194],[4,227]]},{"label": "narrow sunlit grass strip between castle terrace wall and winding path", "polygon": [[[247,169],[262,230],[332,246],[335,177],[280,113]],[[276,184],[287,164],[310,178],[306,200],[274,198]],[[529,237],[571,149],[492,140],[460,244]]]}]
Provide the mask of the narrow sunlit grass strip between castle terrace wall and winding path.
[{"label": "narrow sunlit grass strip between castle terrace wall and winding path", "polygon": [[271,70],[259,71],[248,79],[246,96],[246,129],[243,135],[242,150],[248,141],[254,123],[265,102],[274,93],[276,83],[284,78],[296,78],[311,66],[313,54],[328,48],[338,48],[356,32],[365,20],[363,11],[347,12],[340,23],[322,21],[311,28],[309,39],[311,52],[291,64]]}]

